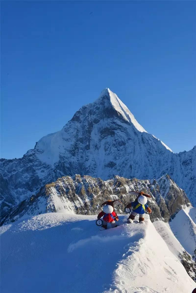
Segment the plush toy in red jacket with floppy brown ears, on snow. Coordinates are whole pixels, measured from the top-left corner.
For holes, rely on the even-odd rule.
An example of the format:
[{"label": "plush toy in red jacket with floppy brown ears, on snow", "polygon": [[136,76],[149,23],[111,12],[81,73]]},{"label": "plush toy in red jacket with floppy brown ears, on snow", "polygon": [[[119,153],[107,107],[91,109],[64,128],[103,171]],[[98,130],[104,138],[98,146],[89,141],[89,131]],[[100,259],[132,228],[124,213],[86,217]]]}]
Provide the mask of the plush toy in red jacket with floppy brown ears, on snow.
[{"label": "plush toy in red jacket with floppy brown ears, on snow", "polygon": [[100,212],[97,216],[98,220],[101,219],[101,217],[103,217],[103,224],[99,228],[99,230],[107,229],[107,223],[110,223],[112,228],[117,227],[115,221],[118,221],[119,218],[118,218],[116,212],[114,211],[114,202],[115,201],[122,203],[120,200],[107,200],[106,202],[102,203],[102,205],[104,205],[103,211]]}]

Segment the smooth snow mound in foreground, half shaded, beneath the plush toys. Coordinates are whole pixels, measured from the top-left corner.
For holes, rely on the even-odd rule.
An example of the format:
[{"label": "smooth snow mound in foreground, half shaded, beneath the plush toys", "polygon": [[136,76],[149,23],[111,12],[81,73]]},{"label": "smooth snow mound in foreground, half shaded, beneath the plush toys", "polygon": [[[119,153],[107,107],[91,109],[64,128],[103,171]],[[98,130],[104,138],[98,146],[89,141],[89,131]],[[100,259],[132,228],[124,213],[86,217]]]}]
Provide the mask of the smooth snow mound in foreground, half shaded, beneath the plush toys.
[{"label": "smooth snow mound in foreground, half shaded, beneath the plush toys", "polygon": [[1,293],[191,293],[195,282],[146,215],[99,231],[96,216],[42,214],[1,227]]}]

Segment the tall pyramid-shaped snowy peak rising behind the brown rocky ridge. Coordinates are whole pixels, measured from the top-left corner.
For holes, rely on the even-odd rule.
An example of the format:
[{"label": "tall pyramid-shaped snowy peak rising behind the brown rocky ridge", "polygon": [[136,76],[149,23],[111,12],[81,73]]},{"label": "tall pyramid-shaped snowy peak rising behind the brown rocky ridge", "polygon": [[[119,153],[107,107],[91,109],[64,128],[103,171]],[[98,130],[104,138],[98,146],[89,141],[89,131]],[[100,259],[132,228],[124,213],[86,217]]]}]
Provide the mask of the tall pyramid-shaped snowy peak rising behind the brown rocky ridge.
[{"label": "tall pyramid-shaped snowy peak rising behind the brown rocky ridge", "polygon": [[[196,205],[196,147],[174,154],[106,89],[98,100],[77,111],[62,130],[40,139],[23,158],[1,159],[1,213],[62,176],[157,179],[165,173]],[[175,205],[170,208],[172,212]],[[161,212],[164,215],[164,203]]]}]

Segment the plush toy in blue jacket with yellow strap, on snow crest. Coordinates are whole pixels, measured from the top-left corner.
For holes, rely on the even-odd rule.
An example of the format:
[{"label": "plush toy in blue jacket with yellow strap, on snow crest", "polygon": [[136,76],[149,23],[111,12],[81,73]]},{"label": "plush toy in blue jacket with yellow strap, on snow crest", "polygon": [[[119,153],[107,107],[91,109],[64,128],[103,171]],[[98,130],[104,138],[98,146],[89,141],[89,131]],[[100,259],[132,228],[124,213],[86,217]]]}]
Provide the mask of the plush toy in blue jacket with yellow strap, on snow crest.
[{"label": "plush toy in blue jacket with yellow strap, on snow crest", "polygon": [[148,207],[147,203],[147,197],[151,197],[149,194],[143,193],[143,192],[136,192],[136,191],[130,191],[129,193],[137,195],[137,198],[134,202],[129,203],[126,205],[126,208],[133,208],[129,218],[127,219],[127,222],[133,223],[135,216],[139,214],[139,223],[144,222],[144,214],[145,210],[148,211],[148,213],[151,213],[151,209]]}]

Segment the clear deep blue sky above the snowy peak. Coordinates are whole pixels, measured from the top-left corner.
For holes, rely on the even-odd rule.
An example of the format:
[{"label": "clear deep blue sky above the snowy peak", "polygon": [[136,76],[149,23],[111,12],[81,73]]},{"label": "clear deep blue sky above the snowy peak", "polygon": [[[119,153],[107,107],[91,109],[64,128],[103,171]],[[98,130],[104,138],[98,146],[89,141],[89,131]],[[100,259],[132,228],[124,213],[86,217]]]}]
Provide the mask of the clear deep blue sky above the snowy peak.
[{"label": "clear deep blue sky above the snowy peak", "polygon": [[1,157],[109,87],[174,152],[196,144],[195,1],[1,1]]}]

